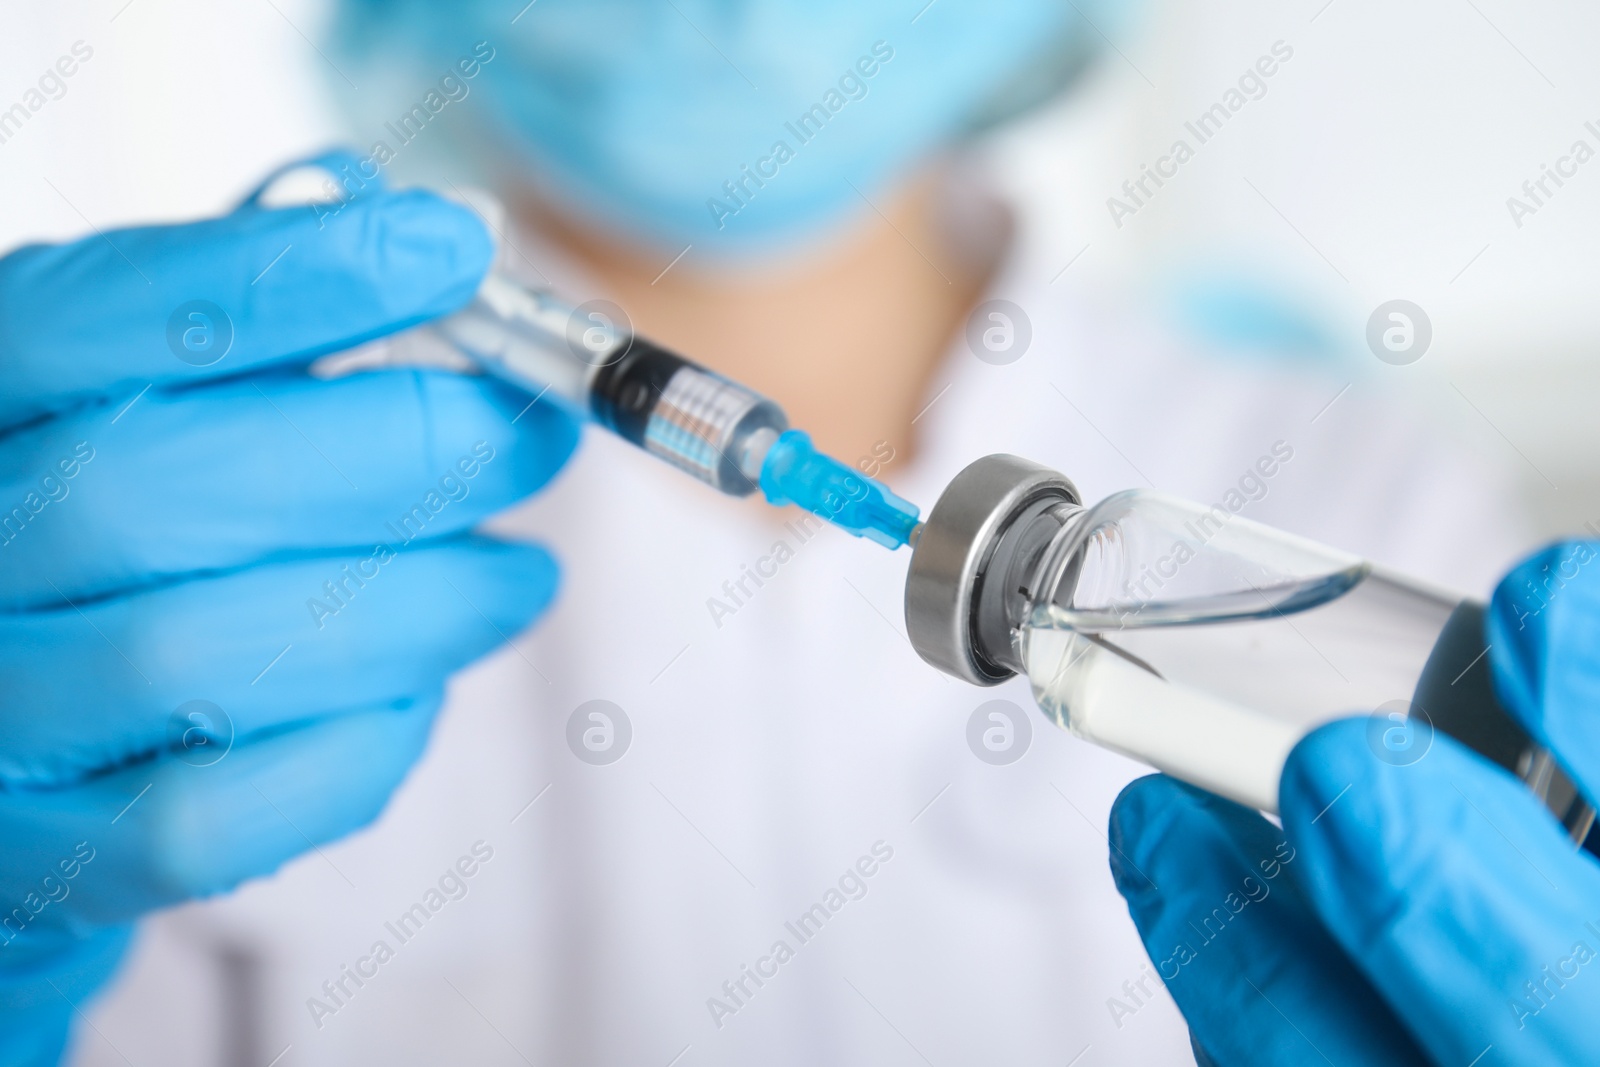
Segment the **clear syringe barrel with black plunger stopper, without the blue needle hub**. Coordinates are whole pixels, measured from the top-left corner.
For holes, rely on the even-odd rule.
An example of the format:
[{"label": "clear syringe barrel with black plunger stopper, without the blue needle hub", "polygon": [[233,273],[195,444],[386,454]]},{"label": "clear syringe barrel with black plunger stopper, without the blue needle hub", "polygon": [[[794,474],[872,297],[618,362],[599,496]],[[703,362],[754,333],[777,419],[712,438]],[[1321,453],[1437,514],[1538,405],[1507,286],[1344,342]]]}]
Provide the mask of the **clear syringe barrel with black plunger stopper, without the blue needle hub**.
[{"label": "clear syringe barrel with black plunger stopper, without the blue needle hub", "polygon": [[634,334],[616,315],[490,274],[430,326],[485,373],[616,435],[730,496],[749,496],[789,429],[782,410]]}]

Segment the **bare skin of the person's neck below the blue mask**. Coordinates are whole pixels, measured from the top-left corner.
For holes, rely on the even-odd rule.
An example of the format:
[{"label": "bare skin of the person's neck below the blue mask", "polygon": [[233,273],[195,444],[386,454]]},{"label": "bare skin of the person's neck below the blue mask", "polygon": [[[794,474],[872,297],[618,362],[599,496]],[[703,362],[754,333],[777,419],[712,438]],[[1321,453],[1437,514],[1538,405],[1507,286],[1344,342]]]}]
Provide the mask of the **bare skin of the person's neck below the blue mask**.
[{"label": "bare skin of the person's neck below the blue mask", "polygon": [[925,184],[797,266],[698,270],[661,262],[523,205],[610,291],[642,334],[771,397],[845,462],[904,461],[934,370],[992,262],[971,262]]}]

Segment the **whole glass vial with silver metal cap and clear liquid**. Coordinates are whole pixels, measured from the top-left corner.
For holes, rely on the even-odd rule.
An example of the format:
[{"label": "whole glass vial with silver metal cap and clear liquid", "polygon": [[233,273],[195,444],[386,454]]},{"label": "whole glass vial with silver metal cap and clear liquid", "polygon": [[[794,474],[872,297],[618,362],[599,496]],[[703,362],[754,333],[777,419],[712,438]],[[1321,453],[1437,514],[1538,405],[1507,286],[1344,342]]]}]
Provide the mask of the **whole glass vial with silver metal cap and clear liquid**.
[{"label": "whole glass vial with silver metal cap and clear liquid", "polygon": [[1594,817],[1494,697],[1480,603],[1222,507],[1144,490],[1083,507],[1059,474],[989,456],[930,512],[906,603],[925,659],[1024,673],[1059,726],[1262,811],[1304,734],[1368,712],[1379,758],[1442,731],[1579,840]]}]

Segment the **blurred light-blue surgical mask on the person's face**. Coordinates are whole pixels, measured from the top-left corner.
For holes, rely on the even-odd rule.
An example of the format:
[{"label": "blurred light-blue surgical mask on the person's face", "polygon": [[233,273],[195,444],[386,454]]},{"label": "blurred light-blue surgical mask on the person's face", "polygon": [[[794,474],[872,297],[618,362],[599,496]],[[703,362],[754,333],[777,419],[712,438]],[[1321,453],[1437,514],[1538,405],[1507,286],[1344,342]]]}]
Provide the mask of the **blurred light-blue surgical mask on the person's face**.
[{"label": "blurred light-blue surgical mask on the person's face", "polygon": [[918,163],[1058,88],[1098,40],[1061,0],[925,2],[536,0],[518,14],[512,0],[344,0],[338,35],[374,64],[430,64],[419,88],[485,42],[470,88],[494,147],[546,197],[715,258],[870,214]]}]

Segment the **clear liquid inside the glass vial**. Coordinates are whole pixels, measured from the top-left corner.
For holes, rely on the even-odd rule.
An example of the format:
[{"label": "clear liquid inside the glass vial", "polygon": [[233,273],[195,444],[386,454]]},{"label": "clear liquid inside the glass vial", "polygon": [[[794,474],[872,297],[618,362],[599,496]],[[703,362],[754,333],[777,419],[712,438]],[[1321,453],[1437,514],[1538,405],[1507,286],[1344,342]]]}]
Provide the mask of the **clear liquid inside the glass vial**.
[{"label": "clear liquid inside the glass vial", "polygon": [[1018,633],[1058,725],[1253,808],[1277,808],[1317,725],[1410,701],[1459,603],[1368,565],[1109,609],[1038,605]]}]

